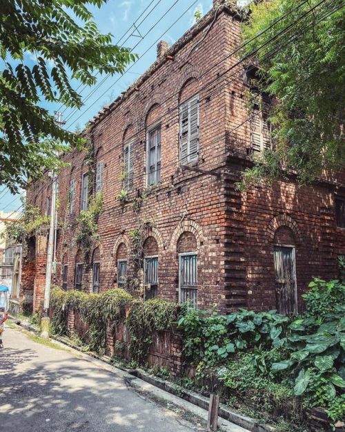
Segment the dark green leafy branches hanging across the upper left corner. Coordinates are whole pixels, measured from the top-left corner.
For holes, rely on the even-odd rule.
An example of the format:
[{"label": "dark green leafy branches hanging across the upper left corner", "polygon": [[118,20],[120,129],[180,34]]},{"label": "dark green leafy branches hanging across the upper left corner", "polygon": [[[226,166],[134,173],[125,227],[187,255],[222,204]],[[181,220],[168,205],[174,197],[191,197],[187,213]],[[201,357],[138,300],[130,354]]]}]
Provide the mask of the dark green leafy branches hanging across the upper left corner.
[{"label": "dark green leafy branches hanging across the upper left corner", "polygon": [[[88,8],[106,1],[1,0],[0,184],[11,191],[58,165],[58,151],[81,142],[55,124],[42,102],[79,109],[71,79],[91,86],[97,73],[123,73],[135,59],[92,19]],[[32,67],[29,55],[36,59]]]}]

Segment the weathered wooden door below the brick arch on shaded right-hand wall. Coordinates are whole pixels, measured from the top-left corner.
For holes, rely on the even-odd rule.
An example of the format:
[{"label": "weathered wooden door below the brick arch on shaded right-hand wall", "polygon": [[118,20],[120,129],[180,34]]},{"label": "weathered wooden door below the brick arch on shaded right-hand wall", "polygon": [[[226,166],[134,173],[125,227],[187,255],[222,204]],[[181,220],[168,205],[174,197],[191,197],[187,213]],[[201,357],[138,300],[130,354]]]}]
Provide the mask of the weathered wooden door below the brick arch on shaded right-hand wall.
[{"label": "weathered wooden door below the brick arch on shaded right-hand wall", "polygon": [[275,246],[275,292],[277,311],[284,315],[297,313],[295,247]]}]

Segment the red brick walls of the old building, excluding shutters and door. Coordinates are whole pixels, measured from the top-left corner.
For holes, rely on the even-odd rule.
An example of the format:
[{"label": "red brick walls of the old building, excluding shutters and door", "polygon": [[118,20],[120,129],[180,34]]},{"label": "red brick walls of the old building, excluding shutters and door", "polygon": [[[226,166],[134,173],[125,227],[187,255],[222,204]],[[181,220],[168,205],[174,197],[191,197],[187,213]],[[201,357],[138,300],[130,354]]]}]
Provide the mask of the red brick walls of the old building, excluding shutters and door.
[{"label": "red brick walls of the old building, excluding shutters and door", "polygon": [[[81,176],[100,161],[103,212],[99,241],[92,248],[99,249],[101,291],[116,284],[117,259],[128,259],[128,275],[142,282],[142,271],[133,274],[132,265],[132,233],[140,227],[145,227],[144,240],[148,239],[144,253],[158,255],[159,297],[178,299],[178,253],[198,253],[199,308],[215,303],[220,310],[275,308],[276,242],[295,241],[299,308],[312,276],[336,276],[336,256],[345,253],[345,232],[335,226],[334,194],[345,184],[343,173],[315,187],[299,188],[293,178],[245,194],[235,187],[251,163],[248,86],[242,66],[233,67],[237,57],[232,52],[240,40],[238,19],[224,7],[217,15],[210,12],[168,50],[169,57],[161,55],[125,95],[101,111],[88,135],[91,166],[84,151],[64,156],[68,166],[59,174],[58,283],[63,260],[68,264],[68,289],[74,287],[77,253],[82,253],[75,241]],[[199,95],[199,158],[182,169],[179,104],[194,95]],[[146,133],[157,122],[161,182],[147,188]],[[120,203],[116,196],[122,188],[124,145],[131,140],[133,188]],[[71,179],[76,181],[72,214]],[[48,194],[45,178],[32,184],[28,198],[43,212]],[[83,290],[91,290],[91,273],[92,265],[85,263]]]}]

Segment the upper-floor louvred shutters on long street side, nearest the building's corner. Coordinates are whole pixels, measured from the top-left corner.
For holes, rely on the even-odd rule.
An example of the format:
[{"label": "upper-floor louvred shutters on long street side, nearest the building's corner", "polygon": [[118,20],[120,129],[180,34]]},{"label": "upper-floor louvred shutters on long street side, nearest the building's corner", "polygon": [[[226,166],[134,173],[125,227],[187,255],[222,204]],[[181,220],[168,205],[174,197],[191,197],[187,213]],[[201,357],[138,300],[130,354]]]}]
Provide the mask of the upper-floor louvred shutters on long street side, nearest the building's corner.
[{"label": "upper-floor louvred shutters on long street side, nearest the building's corner", "polygon": [[199,156],[199,96],[179,106],[179,161],[187,165]]}]

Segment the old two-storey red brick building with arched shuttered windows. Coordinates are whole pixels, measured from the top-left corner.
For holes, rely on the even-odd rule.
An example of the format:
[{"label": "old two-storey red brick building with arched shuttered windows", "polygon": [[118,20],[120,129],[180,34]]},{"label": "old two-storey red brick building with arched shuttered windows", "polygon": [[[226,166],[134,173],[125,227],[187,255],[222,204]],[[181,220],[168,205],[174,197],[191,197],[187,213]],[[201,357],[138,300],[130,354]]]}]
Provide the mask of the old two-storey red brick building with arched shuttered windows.
[{"label": "old two-storey red brick building with arched shuttered windows", "polygon": [[[236,66],[241,19],[218,5],[172,47],[159,44],[155,64],[90,122],[88,151],[63,156],[56,249],[63,288],[135,287],[198,308],[292,312],[302,309],[313,276],[337,276],[344,177],[313,187],[291,177],[244,194],[235,187],[253,153],[270,146],[263,112],[248,113],[244,65]],[[99,240],[85,256],[77,216],[96,191]],[[28,199],[49,212],[48,175]],[[46,233],[26,249],[21,290],[34,291],[37,309]]]}]

